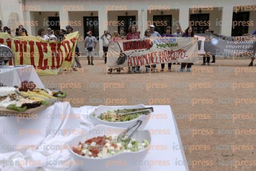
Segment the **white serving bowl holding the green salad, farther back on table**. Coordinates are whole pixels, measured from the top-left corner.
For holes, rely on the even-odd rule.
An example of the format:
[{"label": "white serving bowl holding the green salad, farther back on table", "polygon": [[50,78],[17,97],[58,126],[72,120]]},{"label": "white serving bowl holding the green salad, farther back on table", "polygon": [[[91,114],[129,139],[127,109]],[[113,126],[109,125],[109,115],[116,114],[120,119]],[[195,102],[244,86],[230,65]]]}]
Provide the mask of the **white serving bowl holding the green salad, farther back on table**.
[{"label": "white serving bowl holding the green salad, farther back on table", "polygon": [[[132,124],[137,122],[137,120],[140,120],[140,121],[142,121],[142,124],[140,125],[140,127],[138,129],[143,130],[144,127],[147,125],[147,122],[150,119],[151,113],[149,115],[141,115],[140,117],[138,117],[134,120],[124,121],[124,122],[103,121],[103,120],[97,118],[97,116],[99,116],[101,113],[107,112],[108,110],[114,111],[117,109],[122,110],[122,109],[137,109],[137,108],[145,108],[145,106],[142,104],[135,105],[135,106],[99,106],[91,112],[91,114],[89,115],[89,118],[90,118],[90,121],[94,124],[94,126],[96,126],[98,124],[103,124],[103,125],[108,125],[108,126],[112,126],[112,127],[125,127],[125,128],[128,128],[129,126],[131,126]],[[95,113],[95,116],[93,116],[93,113]]]}]

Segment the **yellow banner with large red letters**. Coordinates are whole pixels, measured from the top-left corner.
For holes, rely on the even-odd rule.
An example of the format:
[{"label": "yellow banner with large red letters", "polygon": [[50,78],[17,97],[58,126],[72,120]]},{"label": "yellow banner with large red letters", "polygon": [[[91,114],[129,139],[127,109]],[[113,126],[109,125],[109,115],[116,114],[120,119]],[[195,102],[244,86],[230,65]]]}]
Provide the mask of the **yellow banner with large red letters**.
[{"label": "yellow banner with large red letters", "polygon": [[[71,68],[79,32],[68,34],[62,42],[48,42],[34,36],[11,37],[0,33],[0,44],[12,49],[16,65],[33,65],[39,76],[56,75],[60,68]],[[12,60],[9,65],[13,65]]]}]

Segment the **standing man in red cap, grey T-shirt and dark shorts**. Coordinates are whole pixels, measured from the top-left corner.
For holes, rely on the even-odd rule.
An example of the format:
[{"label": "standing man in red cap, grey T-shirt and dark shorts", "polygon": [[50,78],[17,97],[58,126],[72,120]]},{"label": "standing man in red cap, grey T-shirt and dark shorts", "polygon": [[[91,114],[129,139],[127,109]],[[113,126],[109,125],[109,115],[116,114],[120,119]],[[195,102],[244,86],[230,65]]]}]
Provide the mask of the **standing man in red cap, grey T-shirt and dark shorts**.
[{"label": "standing man in red cap, grey T-shirt and dark shorts", "polygon": [[[87,37],[84,39],[84,48],[85,52],[87,53],[87,60],[88,60],[88,65],[94,65],[93,60],[94,60],[94,49],[97,45],[97,39],[92,36],[92,31],[87,32]],[[90,62],[90,56],[91,56],[91,62]]]}]

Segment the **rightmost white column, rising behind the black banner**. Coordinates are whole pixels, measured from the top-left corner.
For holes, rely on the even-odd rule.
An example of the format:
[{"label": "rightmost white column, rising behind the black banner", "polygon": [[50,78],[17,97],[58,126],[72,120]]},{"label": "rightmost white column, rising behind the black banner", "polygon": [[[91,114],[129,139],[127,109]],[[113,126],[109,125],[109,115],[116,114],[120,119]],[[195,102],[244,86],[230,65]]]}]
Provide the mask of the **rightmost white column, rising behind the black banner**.
[{"label": "rightmost white column, rising behind the black banner", "polygon": [[219,24],[221,25],[221,34],[231,36],[232,18],[233,18],[233,8],[223,8],[222,22],[219,22]]}]

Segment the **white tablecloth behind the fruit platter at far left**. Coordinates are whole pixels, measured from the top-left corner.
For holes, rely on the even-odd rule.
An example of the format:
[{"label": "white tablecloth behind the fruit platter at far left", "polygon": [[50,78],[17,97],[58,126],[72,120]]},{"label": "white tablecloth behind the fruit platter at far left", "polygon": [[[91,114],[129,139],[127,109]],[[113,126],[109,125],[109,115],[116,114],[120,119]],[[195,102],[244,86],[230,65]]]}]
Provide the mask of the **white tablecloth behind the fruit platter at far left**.
[{"label": "white tablecloth behind the fruit platter at far left", "polygon": [[22,81],[33,81],[37,88],[44,88],[44,84],[38,77],[32,65],[22,67],[2,66],[0,67],[0,83],[6,86],[16,86]]}]

